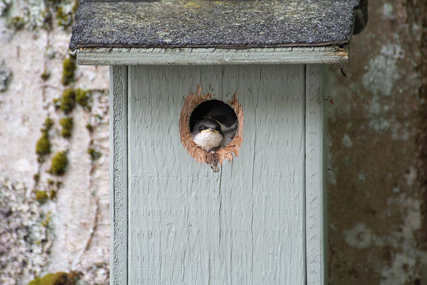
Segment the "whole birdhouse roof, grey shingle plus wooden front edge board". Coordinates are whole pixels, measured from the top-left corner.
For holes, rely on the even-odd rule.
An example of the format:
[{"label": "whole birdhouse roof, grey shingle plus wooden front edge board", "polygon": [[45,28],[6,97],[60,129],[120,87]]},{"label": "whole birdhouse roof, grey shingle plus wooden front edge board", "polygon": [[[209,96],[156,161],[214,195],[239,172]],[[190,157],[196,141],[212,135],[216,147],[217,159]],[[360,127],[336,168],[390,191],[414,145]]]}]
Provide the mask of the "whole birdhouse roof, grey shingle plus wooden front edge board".
[{"label": "whole birdhouse roof, grey shingle plus wooden front edge board", "polygon": [[349,58],[359,0],[83,1],[77,62],[335,63]]}]

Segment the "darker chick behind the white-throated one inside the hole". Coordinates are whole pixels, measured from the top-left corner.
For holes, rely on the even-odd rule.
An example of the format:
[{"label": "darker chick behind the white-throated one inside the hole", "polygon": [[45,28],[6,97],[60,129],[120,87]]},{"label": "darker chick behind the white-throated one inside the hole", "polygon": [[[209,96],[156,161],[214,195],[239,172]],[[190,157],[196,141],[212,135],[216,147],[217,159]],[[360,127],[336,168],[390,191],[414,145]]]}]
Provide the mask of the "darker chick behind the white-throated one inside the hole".
[{"label": "darker chick behind the white-throated one inside the hole", "polygon": [[238,121],[237,115],[230,105],[220,101],[220,103],[210,107],[203,115],[203,118],[213,119],[221,126],[224,138],[219,147],[224,147],[233,140],[236,135]]}]

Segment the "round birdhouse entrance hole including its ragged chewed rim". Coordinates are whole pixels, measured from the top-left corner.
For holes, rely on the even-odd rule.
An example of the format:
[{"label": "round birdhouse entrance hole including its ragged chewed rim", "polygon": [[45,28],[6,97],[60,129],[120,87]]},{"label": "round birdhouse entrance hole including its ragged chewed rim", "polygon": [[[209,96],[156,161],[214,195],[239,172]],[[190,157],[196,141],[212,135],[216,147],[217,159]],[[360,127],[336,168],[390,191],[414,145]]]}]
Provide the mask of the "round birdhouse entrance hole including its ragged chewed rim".
[{"label": "round birdhouse entrance hole including its ragged chewed rim", "polygon": [[[222,116],[224,112],[228,115]],[[228,120],[222,117],[227,117]],[[224,121],[224,119],[226,120]],[[236,124],[233,125],[233,123]],[[193,139],[195,134],[204,130],[207,132],[207,129],[224,134],[224,138],[229,135],[229,138],[222,140],[217,147],[203,149]],[[193,136],[191,131],[194,131]],[[232,161],[233,156],[239,155],[239,148],[243,141],[243,109],[237,101],[236,94],[234,94],[234,99],[227,104],[212,99],[212,94],[202,94],[201,86],[197,86],[197,91],[188,94],[184,100],[179,119],[179,133],[182,145],[197,162],[217,166],[218,163],[222,164],[224,159]]]}]

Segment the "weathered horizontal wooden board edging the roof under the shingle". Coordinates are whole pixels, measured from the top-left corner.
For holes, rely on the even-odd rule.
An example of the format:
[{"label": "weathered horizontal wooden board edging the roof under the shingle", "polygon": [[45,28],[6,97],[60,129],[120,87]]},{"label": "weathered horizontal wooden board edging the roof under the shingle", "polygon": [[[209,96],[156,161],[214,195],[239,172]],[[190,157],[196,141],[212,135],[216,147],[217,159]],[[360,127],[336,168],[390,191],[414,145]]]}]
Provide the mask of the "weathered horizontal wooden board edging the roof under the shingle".
[{"label": "weathered horizontal wooden board edging the roof under the shingle", "polygon": [[79,48],[80,65],[343,63],[349,46],[226,48]]}]

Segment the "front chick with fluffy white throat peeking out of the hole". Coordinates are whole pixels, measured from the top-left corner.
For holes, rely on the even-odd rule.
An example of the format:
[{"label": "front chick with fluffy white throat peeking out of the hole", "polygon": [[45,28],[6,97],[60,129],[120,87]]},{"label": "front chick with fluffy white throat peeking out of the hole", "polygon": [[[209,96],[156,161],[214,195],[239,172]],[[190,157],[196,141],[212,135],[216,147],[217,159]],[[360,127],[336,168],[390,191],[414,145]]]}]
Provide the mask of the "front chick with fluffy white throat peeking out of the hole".
[{"label": "front chick with fluffy white throat peeking out of the hole", "polygon": [[218,148],[224,139],[220,124],[210,118],[203,118],[196,122],[191,137],[194,143],[205,151],[212,152]]}]

